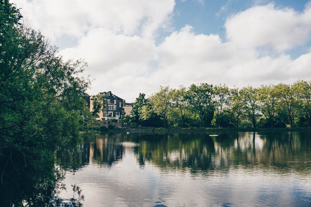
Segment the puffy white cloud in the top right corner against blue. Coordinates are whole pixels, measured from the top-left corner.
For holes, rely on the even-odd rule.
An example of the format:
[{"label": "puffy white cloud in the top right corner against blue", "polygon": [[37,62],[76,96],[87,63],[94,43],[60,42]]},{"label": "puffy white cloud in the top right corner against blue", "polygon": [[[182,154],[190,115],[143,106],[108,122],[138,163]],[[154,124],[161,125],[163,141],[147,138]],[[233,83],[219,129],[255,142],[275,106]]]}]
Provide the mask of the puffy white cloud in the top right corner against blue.
[{"label": "puffy white cloud in the top right corner against blue", "polygon": [[302,13],[273,4],[239,12],[225,22],[227,39],[241,47],[270,46],[283,52],[311,40],[311,4]]}]

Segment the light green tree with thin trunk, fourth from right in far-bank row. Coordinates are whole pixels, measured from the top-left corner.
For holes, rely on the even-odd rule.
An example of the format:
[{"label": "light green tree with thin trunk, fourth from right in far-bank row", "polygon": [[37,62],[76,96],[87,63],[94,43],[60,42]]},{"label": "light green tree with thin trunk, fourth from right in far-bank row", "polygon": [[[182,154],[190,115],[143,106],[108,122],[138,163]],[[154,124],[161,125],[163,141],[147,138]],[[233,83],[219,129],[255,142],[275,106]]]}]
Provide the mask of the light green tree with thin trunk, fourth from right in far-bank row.
[{"label": "light green tree with thin trunk, fourth from right in far-bank row", "polygon": [[244,105],[244,110],[252,121],[253,128],[256,128],[256,113],[259,110],[258,89],[252,86],[243,87],[239,91],[239,94]]}]

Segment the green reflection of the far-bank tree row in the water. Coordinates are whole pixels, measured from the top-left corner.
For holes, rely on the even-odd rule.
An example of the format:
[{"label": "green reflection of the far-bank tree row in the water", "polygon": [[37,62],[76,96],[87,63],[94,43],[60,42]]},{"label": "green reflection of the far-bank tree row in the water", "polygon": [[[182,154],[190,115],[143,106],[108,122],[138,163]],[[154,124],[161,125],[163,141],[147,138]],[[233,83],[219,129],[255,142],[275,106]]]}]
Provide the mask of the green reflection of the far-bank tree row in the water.
[{"label": "green reflection of the far-bank tree row in the water", "polygon": [[137,161],[146,161],[164,170],[190,169],[229,171],[232,167],[268,169],[276,172],[309,170],[310,132],[159,133],[124,135],[137,142]]}]

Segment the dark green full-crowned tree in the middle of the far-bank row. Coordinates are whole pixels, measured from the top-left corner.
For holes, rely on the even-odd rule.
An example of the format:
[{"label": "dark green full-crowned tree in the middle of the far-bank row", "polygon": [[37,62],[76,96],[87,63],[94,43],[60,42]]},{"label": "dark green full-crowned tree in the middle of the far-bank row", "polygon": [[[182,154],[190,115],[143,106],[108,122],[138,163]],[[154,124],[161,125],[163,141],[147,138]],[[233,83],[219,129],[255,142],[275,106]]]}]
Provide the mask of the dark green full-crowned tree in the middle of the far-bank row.
[{"label": "dark green full-crowned tree in the middle of the far-bank row", "polygon": [[189,105],[192,106],[194,113],[197,113],[200,119],[200,126],[208,126],[214,115],[214,106],[212,103],[213,85],[201,83],[192,84],[189,87],[187,98]]}]

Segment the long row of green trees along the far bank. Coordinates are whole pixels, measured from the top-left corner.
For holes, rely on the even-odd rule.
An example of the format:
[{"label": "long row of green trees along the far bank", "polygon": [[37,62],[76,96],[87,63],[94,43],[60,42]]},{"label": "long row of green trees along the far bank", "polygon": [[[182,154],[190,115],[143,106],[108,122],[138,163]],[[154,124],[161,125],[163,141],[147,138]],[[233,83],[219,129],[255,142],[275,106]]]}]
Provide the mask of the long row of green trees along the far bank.
[{"label": "long row of green trees along the far bank", "polygon": [[160,86],[148,98],[139,93],[131,115],[123,121],[151,127],[311,127],[311,81],[240,89],[208,83]]}]

